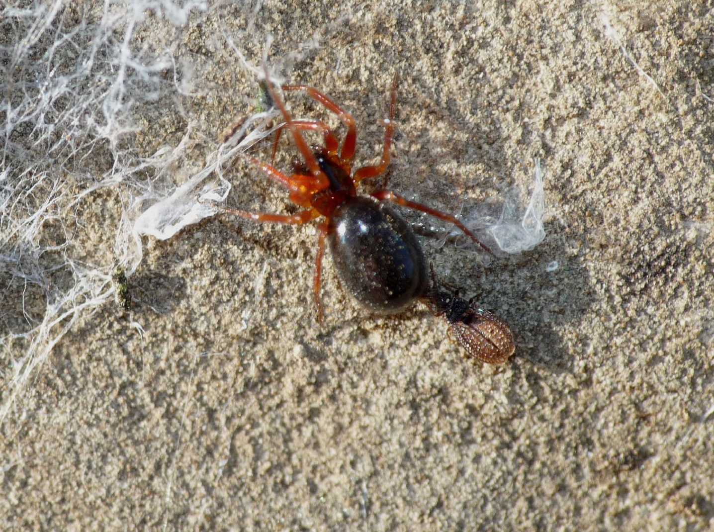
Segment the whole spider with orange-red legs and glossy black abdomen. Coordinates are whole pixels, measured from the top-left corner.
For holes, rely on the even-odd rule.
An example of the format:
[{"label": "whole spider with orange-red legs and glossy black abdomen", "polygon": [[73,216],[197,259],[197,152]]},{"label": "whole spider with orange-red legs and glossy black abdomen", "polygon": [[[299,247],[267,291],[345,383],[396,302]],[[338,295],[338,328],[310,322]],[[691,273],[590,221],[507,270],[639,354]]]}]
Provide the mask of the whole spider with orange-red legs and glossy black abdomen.
[{"label": "whole spider with orange-red legs and glossy black abdomen", "polygon": [[[226,209],[221,211],[256,222],[278,224],[318,223],[318,244],[313,277],[313,298],[318,321],[323,319],[320,298],[322,261],[325,243],[329,241],[333,262],[343,286],[362,306],[378,313],[396,313],[422,297],[428,291],[428,274],[423,251],[409,224],[389,204],[415,209],[451,222],[471,237],[481,248],[492,253],[456,218],[426,205],[408,201],[389,190],[378,190],[371,196],[358,196],[357,185],[365,179],[384,174],[390,163],[390,148],[396,116],[398,76],[391,85],[389,118],[384,120],[384,144],[379,164],[352,170],[357,147],[357,127],[352,115],[338,106],[329,96],[306,85],[284,85],[284,92],[304,91],[313,100],[336,114],[346,126],[342,146],[334,131],[319,120],[293,120],[285,103],[269,80],[266,87],[278,107],[294,144],[303,157],[304,169],[296,166],[287,175],[258,159],[249,158],[269,179],[290,192],[294,204],[303,207],[297,214],[268,214]],[[278,129],[278,134],[281,129]],[[324,146],[309,147],[303,131],[316,131],[323,136]],[[277,141],[273,145],[273,156]]]}]

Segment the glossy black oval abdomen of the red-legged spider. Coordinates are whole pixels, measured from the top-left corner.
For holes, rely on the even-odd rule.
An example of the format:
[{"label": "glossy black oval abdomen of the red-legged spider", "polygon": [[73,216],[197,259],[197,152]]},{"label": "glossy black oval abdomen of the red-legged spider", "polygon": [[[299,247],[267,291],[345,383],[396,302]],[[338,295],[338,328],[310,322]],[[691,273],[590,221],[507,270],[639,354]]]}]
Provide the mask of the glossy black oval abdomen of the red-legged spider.
[{"label": "glossy black oval abdomen of the red-legged spider", "polygon": [[421,246],[387,204],[366,197],[346,200],[331,218],[328,240],[343,285],[371,311],[401,311],[426,291]]}]

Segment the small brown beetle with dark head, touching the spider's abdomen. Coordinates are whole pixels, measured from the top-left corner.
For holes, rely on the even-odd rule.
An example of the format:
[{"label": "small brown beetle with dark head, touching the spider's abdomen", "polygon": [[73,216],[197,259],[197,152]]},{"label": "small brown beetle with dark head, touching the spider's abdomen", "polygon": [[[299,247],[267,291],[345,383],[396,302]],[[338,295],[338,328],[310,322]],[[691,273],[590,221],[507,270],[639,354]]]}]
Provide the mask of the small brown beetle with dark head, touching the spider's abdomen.
[{"label": "small brown beetle with dark head, touching the spider's abdomen", "polygon": [[436,316],[446,318],[449,330],[466,349],[466,357],[489,364],[506,362],[516,351],[508,323],[496,314],[474,305],[473,298],[467,301],[458,296],[458,291],[440,289],[433,267],[431,280],[433,286],[426,295],[426,301]]}]

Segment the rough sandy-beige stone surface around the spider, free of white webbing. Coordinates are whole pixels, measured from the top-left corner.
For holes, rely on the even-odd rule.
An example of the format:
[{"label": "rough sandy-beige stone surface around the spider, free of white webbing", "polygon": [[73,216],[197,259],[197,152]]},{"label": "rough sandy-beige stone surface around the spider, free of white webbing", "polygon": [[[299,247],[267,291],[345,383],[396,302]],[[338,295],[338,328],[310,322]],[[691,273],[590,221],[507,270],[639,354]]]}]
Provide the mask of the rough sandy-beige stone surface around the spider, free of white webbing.
[{"label": "rough sandy-beige stone surface around the spider, free of white webbing", "polygon": [[[133,310],[87,316],[6,420],[4,528],[713,527],[714,19],[710,2],[654,4],[266,1],[240,39],[252,4],[147,26],[195,66],[197,94],[146,111],[140,152],[192,121],[200,168],[254,111],[223,29],[256,64],[268,34],[276,58],[318,38],[286,74],[353,112],[364,163],[398,72],[401,194],[473,211],[529,184],[539,157],[535,250],[483,268],[425,241],[444,278],[511,323],[516,357],[464,361],[423,306],[369,316],[329,259],[318,326],[312,227],[224,218],[144,239]],[[230,175],[228,204],[292,211],[247,165]],[[78,237],[108,265],[120,197],[91,196]]]}]

